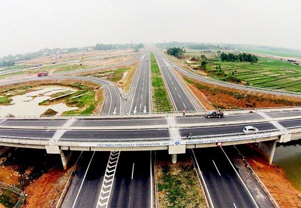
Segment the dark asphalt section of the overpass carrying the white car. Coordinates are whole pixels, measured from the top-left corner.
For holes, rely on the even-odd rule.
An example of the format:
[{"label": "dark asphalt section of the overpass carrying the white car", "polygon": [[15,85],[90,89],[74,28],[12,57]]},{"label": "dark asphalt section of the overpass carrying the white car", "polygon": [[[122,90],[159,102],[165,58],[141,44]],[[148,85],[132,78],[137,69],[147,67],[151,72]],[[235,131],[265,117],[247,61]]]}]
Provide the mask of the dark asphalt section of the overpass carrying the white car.
[{"label": "dark asphalt section of the overpass carrying the white car", "polygon": [[185,137],[186,133],[192,132],[193,136],[210,136],[221,134],[243,134],[245,126],[252,125],[259,131],[276,130],[277,128],[269,122],[253,123],[253,124],[239,124],[239,125],[225,125],[225,126],[210,126],[210,127],[196,127],[196,128],[182,128],[179,129],[180,135]]}]

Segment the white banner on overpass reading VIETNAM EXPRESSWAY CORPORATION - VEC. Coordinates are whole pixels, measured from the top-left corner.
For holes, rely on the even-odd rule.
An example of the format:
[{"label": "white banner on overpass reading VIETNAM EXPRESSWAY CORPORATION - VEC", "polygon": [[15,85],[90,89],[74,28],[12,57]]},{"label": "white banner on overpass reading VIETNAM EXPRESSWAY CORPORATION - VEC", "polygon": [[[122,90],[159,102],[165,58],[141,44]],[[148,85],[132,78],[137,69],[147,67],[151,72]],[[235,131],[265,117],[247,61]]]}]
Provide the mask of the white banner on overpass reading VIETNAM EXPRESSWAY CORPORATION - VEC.
[{"label": "white banner on overpass reading VIETNAM EXPRESSWAY CORPORATION - VEC", "polygon": [[168,142],[122,142],[122,143],[88,143],[88,142],[81,142],[79,143],[80,147],[154,147],[154,146],[169,146],[174,145],[172,141]]}]

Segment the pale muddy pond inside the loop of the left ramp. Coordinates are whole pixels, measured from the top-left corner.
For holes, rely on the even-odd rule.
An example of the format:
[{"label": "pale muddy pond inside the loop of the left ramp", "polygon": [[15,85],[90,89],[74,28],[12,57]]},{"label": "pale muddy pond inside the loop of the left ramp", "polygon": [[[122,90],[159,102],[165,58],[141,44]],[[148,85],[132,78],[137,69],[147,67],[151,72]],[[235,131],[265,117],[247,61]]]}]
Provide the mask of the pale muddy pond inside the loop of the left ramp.
[{"label": "pale muddy pond inside the loop of the left ramp", "polygon": [[36,91],[10,97],[13,99],[11,103],[15,103],[15,105],[0,106],[0,116],[7,116],[8,114],[14,116],[40,116],[48,109],[52,109],[58,112],[57,115],[61,115],[65,111],[78,109],[77,107],[68,107],[65,103],[39,106],[39,102],[50,99],[51,94],[66,90],[77,91],[76,89],[65,86],[39,86],[33,89],[36,89]]}]

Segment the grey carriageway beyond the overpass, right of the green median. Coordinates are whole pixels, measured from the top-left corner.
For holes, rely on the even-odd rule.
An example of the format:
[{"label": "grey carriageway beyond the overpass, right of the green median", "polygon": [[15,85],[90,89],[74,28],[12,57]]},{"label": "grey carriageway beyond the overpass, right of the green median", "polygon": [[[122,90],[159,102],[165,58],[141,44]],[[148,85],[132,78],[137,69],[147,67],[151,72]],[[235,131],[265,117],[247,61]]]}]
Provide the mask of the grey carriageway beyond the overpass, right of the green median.
[{"label": "grey carriageway beyond the overpass, right of the green median", "polygon": [[[166,65],[164,56],[161,55],[157,50],[152,50],[157,58],[158,65],[161,69],[162,76],[165,80],[166,86],[172,97],[173,106],[176,112],[182,112],[186,109],[186,112],[193,111],[198,112],[204,110],[193,96],[189,96],[189,91],[186,92],[184,87],[180,84],[180,81]],[[186,87],[185,87],[186,88]],[[190,93],[191,94],[191,93]],[[194,101],[192,101],[194,100]]]}]

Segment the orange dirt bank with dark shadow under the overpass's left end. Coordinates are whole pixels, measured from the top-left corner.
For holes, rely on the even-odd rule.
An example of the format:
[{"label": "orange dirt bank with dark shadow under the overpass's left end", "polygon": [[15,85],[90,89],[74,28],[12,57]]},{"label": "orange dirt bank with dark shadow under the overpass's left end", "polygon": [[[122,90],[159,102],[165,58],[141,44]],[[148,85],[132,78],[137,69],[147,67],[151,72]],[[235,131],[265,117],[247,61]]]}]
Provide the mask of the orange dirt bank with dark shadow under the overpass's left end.
[{"label": "orange dirt bank with dark shadow under the overpass's left end", "polygon": [[[75,155],[70,164],[76,158]],[[0,166],[0,181],[24,191],[25,208],[55,207],[72,169],[73,166],[63,169],[60,155],[47,154],[41,149],[18,148]]]}]

